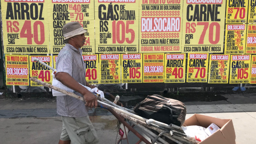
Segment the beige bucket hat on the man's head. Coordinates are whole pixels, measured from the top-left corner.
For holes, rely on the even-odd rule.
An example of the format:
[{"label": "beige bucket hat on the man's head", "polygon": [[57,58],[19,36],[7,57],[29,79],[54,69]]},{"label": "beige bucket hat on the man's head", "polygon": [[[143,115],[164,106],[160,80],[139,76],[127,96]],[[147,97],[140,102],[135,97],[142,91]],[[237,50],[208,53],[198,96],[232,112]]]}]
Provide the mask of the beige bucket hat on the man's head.
[{"label": "beige bucket hat on the man's head", "polygon": [[77,21],[74,22],[68,22],[65,26],[62,28],[64,40],[76,36],[81,35],[83,33],[86,33],[87,30],[85,30]]}]

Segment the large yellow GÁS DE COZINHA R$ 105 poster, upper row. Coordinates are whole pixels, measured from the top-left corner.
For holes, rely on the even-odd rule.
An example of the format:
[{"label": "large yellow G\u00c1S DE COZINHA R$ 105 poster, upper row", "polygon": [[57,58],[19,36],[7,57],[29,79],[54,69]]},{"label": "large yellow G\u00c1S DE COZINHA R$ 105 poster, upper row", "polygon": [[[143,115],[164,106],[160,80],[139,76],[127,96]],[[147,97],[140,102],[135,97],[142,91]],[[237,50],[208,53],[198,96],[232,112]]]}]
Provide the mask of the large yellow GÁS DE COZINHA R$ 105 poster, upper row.
[{"label": "large yellow G\u00c1S DE COZINHA R$ 105 poster, upper row", "polygon": [[139,52],[139,0],[95,0],[95,52]]}]

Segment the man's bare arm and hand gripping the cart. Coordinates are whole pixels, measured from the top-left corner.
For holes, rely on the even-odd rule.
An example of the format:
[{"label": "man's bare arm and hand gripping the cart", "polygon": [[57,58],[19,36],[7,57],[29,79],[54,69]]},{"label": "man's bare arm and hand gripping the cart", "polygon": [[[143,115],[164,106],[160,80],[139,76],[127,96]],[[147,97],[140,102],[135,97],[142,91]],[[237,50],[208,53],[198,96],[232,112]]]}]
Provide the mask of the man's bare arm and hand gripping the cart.
[{"label": "man's bare arm and hand gripping the cart", "polygon": [[[62,84],[66,85],[70,89],[73,89],[74,91],[81,93],[84,97],[84,100],[86,101],[85,106],[91,108],[98,106],[97,97],[95,97],[95,95],[88,91],[84,86],[76,82],[75,79],[71,77],[68,73],[59,72],[56,74],[55,78],[57,78],[58,81],[60,81]],[[88,83],[86,82],[86,85],[87,84]]]}]

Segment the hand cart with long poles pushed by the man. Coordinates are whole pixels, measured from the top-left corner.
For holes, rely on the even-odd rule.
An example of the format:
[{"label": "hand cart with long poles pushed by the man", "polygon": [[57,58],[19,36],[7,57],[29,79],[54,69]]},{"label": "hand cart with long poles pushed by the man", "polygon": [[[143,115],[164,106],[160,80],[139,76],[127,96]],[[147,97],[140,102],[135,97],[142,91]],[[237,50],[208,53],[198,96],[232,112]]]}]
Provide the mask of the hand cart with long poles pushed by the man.
[{"label": "hand cart with long poles pushed by the man", "polygon": [[[35,61],[42,63],[42,65],[55,71],[55,69],[46,65],[46,63],[39,61],[38,59],[36,59]],[[76,95],[74,93],[67,92],[65,90],[60,89],[59,87],[55,87],[53,85],[39,81],[38,79],[36,79],[34,77],[30,77],[29,79],[33,82],[36,82],[43,86],[49,87],[50,89],[62,92],[71,97],[74,97],[76,99],[84,101],[84,99],[82,97],[79,97],[78,95]],[[105,94],[110,96],[110,98],[112,98],[112,99],[115,98],[110,93],[105,92]],[[118,119],[119,122],[121,122],[125,127],[127,127],[128,131],[126,131],[126,129],[124,129],[124,134],[126,135],[125,140],[127,140],[127,143],[129,143],[128,138],[127,138],[127,133],[129,131],[134,133],[136,135],[136,137],[139,138],[139,141],[136,142],[136,144],[141,143],[141,142],[142,143],[144,142],[147,144],[149,144],[149,143],[167,144],[167,143],[170,143],[170,141],[179,143],[179,144],[181,144],[181,143],[186,143],[186,144],[196,143],[195,138],[192,138],[192,137],[189,137],[188,135],[186,135],[180,126],[173,125],[173,124],[168,125],[168,124],[165,124],[162,122],[155,121],[154,119],[143,118],[141,116],[138,116],[131,109],[127,109],[127,108],[118,106],[114,102],[111,102],[111,101],[107,100],[106,98],[100,98],[98,95],[96,95],[96,94],[94,94],[94,95],[98,98],[98,107],[107,109],[108,111],[110,111],[110,113],[113,114]],[[115,101],[118,101],[118,99],[116,99]],[[121,103],[117,103],[117,104],[121,105]],[[127,123],[125,121],[125,119],[128,119],[130,122],[132,122],[133,126],[137,125],[141,129],[141,131],[150,139],[151,142],[149,142],[149,140],[147,140],[138,131],[136,131],[133,128],[133,126],[131,126],[129,123]],[[122,140],[122,138],[121,138],[121,140]],[[121,140],[119,140],[119,141],[121,141]]]}]

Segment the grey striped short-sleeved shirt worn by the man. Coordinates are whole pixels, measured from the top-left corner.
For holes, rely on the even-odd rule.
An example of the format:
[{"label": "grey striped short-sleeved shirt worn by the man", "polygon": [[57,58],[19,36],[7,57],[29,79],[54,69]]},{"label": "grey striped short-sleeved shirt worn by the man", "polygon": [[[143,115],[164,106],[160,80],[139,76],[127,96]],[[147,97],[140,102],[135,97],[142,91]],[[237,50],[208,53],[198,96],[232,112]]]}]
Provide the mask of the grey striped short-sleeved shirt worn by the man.
[{"label": "grey striped short-sleeved shirt worn by the man", "polygon": [[[66,44],[58,54],[56,60],[57,73],[65,72],[73,77],[78,83],[86,85],[85,65],[82,59],[82,50]],[[83,97],[82,94],[74,92]],[[57,113],[62,116],[84,117],[87,116],[87,109],[84,101],[70,97],[69,95],[57,96]]]}]

